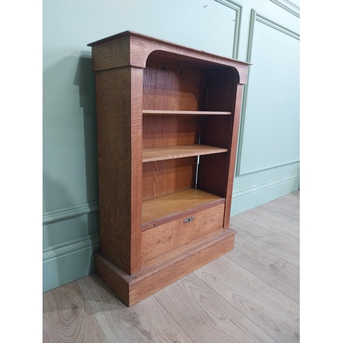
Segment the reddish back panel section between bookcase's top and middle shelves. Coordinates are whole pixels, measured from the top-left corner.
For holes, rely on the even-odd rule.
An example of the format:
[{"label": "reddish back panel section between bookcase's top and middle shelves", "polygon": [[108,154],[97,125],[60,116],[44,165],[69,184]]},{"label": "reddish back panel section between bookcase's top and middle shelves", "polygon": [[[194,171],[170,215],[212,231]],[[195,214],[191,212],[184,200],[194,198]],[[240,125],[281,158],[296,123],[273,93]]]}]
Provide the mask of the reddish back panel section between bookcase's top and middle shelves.
[{"label": "reddish back panel section between bookcase's top and middle shelves", "polygon": [[143,116],[143,149],[199,143],[200,117]]}]

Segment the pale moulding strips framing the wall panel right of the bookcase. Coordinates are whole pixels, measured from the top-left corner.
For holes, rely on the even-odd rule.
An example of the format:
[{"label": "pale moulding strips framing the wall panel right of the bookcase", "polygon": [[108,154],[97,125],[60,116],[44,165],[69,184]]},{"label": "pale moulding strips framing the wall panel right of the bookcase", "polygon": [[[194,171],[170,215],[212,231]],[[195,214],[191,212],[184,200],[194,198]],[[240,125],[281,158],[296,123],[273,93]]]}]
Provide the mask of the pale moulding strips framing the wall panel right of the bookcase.
[{"label": "pale moulding strips framing the wall panel right of the bookcase", "polygon": [[[262,14],[257,13],[254,9],[252,9],[251,16],[250,16],[249,36],[248,36],[248,51],[247,51],[247,57],[246,57],[246,61],[249,63],[251,63],[252,42],[254,40],[254,27],[255,27],[256,21],[259,21],[260,23],[268,25],[272,29],[276,29],[279,32],[282,32],[283,34],[287,34],[288,36],[291,36],[294,39],[300,40],[300,36],[296,32],[293,32],[292,30],[287,29],[287,27],[283,27],[282,25],[275,23],[274,21],[268,19],[267,17],[263,16]],[[251,173],[255,173],[256,171],[263,171],[263,170],[271,169],[274,167],[281,167],[283,165],[288,165],[289,163],[298,162],[299,158],[292,158],[292,159],[287,159],[284,161],[279,161],[276,163],[268,163],[268,164],[260,165],[257,167],[241,169],[241,150],[242,150],[243,136],[244,136],[244,123],[246,120],[246,102],[248,98],[248,88],[249,88],[249,75],[248,75],[248,83],[244,86],[244,95],[243,95],[242,108],[241,108],[241,123],[240,123],[240,128],[239,128],[239,139],[238,139],[238,149],[237,149],[236,176],[251,174]]]}]

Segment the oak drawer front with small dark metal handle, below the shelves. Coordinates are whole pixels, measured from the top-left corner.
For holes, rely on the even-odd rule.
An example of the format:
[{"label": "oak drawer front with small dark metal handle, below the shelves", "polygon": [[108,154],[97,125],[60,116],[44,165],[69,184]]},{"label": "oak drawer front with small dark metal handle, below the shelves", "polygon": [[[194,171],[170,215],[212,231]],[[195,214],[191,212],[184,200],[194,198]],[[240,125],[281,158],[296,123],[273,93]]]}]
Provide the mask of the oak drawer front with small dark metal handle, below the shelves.
[{"label": "oak drawer front with small dark metal handle, below the shelves", "polygon": [[183,246],[223,227],[224,204],[143,231],[141,263]]}]

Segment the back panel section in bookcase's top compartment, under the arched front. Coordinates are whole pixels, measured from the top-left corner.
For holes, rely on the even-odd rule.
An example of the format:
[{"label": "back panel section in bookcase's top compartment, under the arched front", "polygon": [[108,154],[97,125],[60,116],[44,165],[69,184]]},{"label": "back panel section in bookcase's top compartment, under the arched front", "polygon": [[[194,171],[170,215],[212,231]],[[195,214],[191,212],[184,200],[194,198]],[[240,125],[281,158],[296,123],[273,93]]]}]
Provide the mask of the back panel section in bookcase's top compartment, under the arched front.
[{"label": "back panel section in bookcase's top compartment, under the arched front", "polygon": [[143,74],[143,109],[200,110],[204,71],[166,60],[147,60]]}]

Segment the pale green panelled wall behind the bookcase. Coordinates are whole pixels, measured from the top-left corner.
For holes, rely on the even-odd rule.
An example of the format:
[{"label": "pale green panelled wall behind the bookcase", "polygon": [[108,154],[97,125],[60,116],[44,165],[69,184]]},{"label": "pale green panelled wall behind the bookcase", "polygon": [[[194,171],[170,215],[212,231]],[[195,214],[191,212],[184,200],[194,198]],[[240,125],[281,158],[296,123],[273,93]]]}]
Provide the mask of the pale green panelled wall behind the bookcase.
[{"label": "pale green panelled wall behind the bookcase", "polygon": [[252,63],[233,215],[299,188],[298,1],[43,1],[43,290],[94,271],[95,84],[88,43],[128,29]]}]

